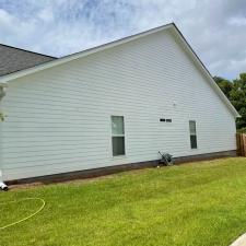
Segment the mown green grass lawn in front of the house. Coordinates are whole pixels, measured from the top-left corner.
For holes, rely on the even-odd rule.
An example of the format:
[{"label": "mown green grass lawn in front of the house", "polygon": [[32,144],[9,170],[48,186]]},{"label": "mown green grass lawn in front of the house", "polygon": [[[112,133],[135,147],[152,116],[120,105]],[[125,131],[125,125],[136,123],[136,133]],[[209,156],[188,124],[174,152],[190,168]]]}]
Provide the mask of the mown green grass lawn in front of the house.
[{"label": "mown green grass lawn in front of the house", "polygon": [[[28,197],[45,209],[0,231],[1,246],[227,246],[246,232],[246,159],[17,188],[0,192],[0,203]],[[1,206],[0,226],[40,204]]]}]

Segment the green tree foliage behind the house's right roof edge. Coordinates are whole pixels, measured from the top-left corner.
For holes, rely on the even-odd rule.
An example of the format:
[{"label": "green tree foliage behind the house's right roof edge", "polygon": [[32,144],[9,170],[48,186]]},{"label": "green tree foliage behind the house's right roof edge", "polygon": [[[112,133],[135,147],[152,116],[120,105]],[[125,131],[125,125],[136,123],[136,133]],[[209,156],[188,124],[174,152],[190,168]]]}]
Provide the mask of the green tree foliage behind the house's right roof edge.
[{"label": "green tree foliage behind the house's right roof edge", "polygon": [[220,77],[214,77],[214,81],[242,116],[236,120],[237,129],[246,128],[246,73],[232,82]]}]

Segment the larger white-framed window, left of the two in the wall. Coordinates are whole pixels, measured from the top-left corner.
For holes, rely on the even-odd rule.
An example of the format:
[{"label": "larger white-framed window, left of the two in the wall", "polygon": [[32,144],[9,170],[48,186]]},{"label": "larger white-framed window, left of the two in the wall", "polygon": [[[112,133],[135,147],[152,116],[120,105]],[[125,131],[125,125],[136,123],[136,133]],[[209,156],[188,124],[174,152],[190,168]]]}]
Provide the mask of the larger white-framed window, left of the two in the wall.
[{"label": "larger white-framed window, left of the two in the wall", "polygon": [[113,156],[125,155],[125,129],[122,116],[112,116],[112,147]]}]

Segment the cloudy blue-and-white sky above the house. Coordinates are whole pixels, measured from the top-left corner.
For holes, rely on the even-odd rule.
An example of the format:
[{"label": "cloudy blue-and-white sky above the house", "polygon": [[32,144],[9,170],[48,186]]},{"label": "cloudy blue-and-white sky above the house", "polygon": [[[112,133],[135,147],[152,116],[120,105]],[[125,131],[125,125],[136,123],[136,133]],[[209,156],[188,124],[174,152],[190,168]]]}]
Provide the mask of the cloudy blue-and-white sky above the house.
[{"label": "cloudy blue-and-white sky above the house", "polygon": [[246,72],[246,0],[0,0],[0,43],[57,57],[169,22],[213,75]]}]

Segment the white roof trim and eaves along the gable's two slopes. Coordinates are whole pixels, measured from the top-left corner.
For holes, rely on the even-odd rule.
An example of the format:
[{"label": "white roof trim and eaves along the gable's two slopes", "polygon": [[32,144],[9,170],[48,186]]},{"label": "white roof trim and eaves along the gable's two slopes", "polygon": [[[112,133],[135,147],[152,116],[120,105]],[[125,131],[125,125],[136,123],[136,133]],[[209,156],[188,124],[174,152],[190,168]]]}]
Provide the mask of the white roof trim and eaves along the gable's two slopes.
[{"label": "white roof trim and eaves along the gable's two slopes", "polygon": [[125,43],[157,33],[157,32],[162,32],[164,30],[169,30],[172,32],[172,34],[176,37],[176,39],[179,42],[179,44],[184,47],[184,49],[188,52],[189,57],[191,58],[191,60],[195,62],[195,65],[198,66],[198,68],[200,69],[200,71],[203,73],[203,75],[207,78],[208,82],[210,83],[211,87],[215,91],[215,93],[220,96],[220,98],[222,99],[222,102],[227,106],[227,108],[231,110],[231,113],[233,114],[234,117],[241,117],[241,115],[237,113],[237,110],[234,108],[234,106],[231,104],[231,102],[227,99],[227,97],[224,95],[224,93],[221,91],[221,89],[218,86],[218,84],[215,83],[215,81],[213,80],[212,75],[210,74],[210,72],[208,71],[208,69],[204,67],[204,65],[201,62],[201,60],[199,59],[199,57],[197,56],[197,54],[192,50],[192,48],[190,47],[190,45],[187,43],[187,40],[185,39],[185,37],[183,36],[183,34],[180,33],[180,31],[177,28],[177,26],[174,23],[169,23],[166,25],[162,25],[152,30],[149,30],[147,32],[143,33],[139,33],[132,36],[128,36],[105,45],[101,45],[91,49],[86,49],[80,52],[75,52],[66,57],[61,57],[59,59],[56,60],[51,60],[48,61],[46,63],[43,65],[38,65],[35,66],[33,68],[27,68],[24,69],[22,71],[17,71],[17,72],[13,72],[9,75],[3,75],[0,77],[0,83],[5,83],[8,81],[24,77],[24,75],[28,75],[32,74],[34,72],[38,72],[48,68],[52,68],[82,57],[86,57],[90,56],[92,54],[108,49],[108,48],[113,48],[115,46],[118,45],[122,45]]}]

